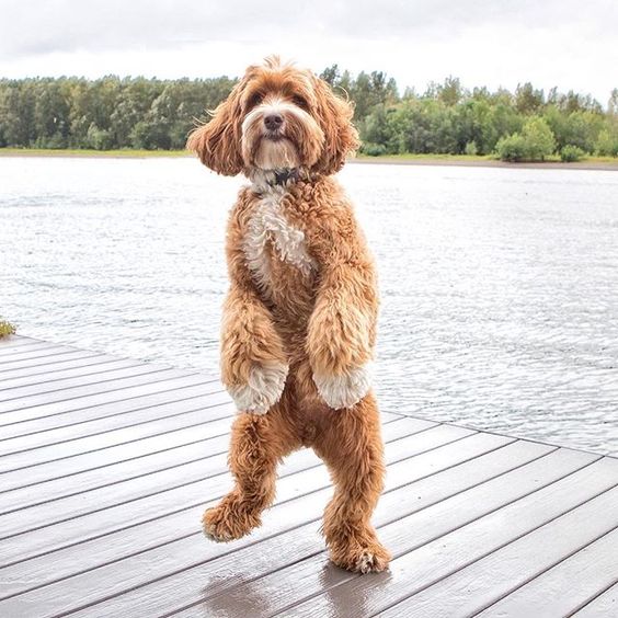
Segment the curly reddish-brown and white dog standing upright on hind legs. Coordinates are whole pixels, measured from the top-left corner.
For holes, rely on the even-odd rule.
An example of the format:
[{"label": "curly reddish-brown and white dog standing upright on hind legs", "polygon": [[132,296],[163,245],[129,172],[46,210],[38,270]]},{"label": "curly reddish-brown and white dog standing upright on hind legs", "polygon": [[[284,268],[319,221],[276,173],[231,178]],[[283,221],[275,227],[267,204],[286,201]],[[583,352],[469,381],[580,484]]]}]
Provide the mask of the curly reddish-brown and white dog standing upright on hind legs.
[{"label": "curly reddish-brown and white dog standing upright on hind legs", "polygon": [[211,115],[187,148],[250,184],[228,221],[221,329],[221,379],[239,411],[229,449],[234,487],[206,511],[204,531],[231,541],[259,526],[278,462],[311,447],[334,483],[322,526],[331,560],[382,571],[390,554],[370,523],[385,476],[369,373],[376,272],[333,178],[358,147],[352,104],[273,56],[249,67]]}]

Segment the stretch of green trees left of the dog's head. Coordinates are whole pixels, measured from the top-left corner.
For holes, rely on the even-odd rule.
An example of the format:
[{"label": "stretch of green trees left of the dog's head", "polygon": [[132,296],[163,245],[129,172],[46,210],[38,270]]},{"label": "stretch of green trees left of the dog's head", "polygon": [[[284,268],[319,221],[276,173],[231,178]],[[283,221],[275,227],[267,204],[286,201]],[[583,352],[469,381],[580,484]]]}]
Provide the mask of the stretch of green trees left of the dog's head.
[{"label": "stretch of green trees left of the dog's head", "polygon": [[236,80],[104,77],[0,80],[0,147],[184,148]]}]

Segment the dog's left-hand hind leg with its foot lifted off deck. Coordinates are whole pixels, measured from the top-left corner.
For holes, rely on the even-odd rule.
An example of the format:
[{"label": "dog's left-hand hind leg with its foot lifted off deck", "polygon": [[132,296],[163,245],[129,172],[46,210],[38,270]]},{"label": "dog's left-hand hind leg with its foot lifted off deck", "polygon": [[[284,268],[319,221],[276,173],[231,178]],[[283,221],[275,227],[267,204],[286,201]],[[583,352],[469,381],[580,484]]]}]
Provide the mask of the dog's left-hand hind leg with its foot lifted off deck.
[{"label": "dog's left-hand hind leg with its foot lifted off deck", "polygon": [[[284,393],[285,394],[285,393]],[[204,534],[216,541],[230,541],[261,524],[261,513],[275,499],[276,468],[300,442],[286,414],[284,400],[266,414],[241,413],[232,425],[229,467],[233,489],[204,513]]]}]

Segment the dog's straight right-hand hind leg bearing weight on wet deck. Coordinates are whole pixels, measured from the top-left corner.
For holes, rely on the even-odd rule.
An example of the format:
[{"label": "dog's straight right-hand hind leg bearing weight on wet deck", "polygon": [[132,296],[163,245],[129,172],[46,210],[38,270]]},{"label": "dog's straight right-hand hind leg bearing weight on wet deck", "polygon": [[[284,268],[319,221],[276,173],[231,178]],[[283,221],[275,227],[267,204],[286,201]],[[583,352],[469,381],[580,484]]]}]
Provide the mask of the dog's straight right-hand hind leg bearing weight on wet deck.
[{"label": "dog's straight right-hand hind leg bearing weight on wet deck", "polygon": [[390,554],[370,523],[386,471],[376,400],[369,393],[353,408],[329,414],[313,449],[334,482],[323,524],[331,560],[348,571],[384,571]]}]

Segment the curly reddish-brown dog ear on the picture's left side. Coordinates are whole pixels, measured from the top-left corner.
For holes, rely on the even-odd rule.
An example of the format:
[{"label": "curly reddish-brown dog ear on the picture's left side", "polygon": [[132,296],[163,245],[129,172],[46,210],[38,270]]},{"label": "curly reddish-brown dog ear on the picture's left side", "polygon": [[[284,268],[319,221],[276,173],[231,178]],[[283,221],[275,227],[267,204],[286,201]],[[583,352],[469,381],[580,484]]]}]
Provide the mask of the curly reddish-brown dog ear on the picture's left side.
[{"label": "curly reddish-brown dog ear on the picture's left side", "polygon": [[244,80],[210,112],[210,121],[195,128],[186,141],[187,149],[197,153],[207,168],[226,176],[236,176],[243,168],[240,146],[243,90]]}]

